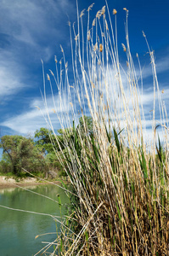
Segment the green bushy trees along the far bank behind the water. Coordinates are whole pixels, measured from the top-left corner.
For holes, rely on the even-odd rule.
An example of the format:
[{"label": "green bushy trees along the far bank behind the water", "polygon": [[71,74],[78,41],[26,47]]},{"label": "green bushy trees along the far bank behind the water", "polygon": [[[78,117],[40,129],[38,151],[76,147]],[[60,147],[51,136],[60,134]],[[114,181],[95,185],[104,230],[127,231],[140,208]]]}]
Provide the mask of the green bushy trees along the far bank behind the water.
[{"label": "green bushy trees along the far bank behind the water", "polygon": [[[92,129],[92,119],[85,117],[85,122]],[[82,118],[79,119],[79,125],[82,129],[84,126]],[[59,129],[57,135],[51,130],[41,128],[35,132],[34,137],[19,135],[1,137],[0,148],[3,149],[3,155],[0,161],[0,172],[21,176],[24,168],[28,172],[42,173],[45,176],[49,171],[57,172],[59,176],[65,176],[66,173],[59,161],[60,158],[64,160],[60,149],[63,150],[68,143],[64,140],[64,133],[69,134],[68,137],[71,138],[72,128]]]}]

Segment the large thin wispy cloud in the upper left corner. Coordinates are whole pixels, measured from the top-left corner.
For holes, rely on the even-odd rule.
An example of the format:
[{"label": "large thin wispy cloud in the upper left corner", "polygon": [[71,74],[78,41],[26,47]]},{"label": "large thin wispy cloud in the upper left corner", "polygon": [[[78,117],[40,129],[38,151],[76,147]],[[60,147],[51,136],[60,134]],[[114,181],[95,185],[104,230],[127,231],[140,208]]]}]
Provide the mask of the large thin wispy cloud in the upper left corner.
[{"label": "large thin wispy cloud in the upper left corner", "polygon": [[0,96],[10,96],[30,87],[31,68],[54,55],[75,9],[70,0],[2,0],[0,9]]}]

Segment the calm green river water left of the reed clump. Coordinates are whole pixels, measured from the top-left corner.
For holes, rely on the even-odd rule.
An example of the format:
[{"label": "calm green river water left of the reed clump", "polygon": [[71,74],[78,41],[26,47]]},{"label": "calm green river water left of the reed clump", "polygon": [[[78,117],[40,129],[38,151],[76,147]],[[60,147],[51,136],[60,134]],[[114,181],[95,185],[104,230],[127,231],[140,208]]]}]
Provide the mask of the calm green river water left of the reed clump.
[{"label": "calm green river water left of the reed clump", "polygon": [[[27,189],[47,195],[56,201],[58,200],[59,194],[63,205],[69,203],[64,190],[54,185],[31,186],[29,188],[27,187]],[[0,205],[60,216],[58,203],[20,188],[0,189]],[[65,208],[61,208],[62,214],[64,214]],[[59,228],[59,224],[57,226]],[[0,207],[1,256],[34,255],[42,247],[47,245],[44,242],[42,243],[42,241],[51,242],[56,238],[56,234],[51,234],[39,236],[35,239],[37,235],[48,232],[56,232],[54,218],[27,212],[12,211]]]}]

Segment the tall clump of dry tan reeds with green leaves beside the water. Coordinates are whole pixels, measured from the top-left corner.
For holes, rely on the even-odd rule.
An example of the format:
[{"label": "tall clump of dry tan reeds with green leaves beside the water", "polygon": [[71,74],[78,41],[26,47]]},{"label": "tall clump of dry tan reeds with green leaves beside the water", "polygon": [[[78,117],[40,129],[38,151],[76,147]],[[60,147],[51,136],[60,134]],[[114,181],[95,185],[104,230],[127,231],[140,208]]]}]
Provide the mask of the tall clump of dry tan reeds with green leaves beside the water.
[{"label": "tall clump of dry tan reeds with green leaves beside the water", "polygon": [[[77,9],[76,27],[69,23],[71,78],[62,47],[62,60],[58,63],[55,57],[56,76],[52,71],[47,75],[53,97],[53,83],[59,90],[54,113],[64,131],[64,143],[56,136],[60,147],[56,154],[73,188],[70,217],[65,222],[69,230],[62,230],[54,253],[167,255],[168,125],[154,52],[144,35],[154,91],[148,140],[149,120],[144,116],[141,90],[142,68],[138,55],[139,74],[132,61],[128,10],[124,9],[126,42],[122,48],[127,67],[123,67],[119,61],[117,11],[110,13],[104,6],[95,19],[90,20],[92,8],[93,4],[86,14],[84,10],[79,14]],[[87,26],[83,25],[83,15],[87,15]],[[44,100],[48,108],[46,94]],[[91,117],[92,129],[88,127],[87,116]],[[160,124],[156,124],[156,119]],[[47,121],[54,131],[49,113]],[[161,138],[157,133],[159,126]]]}]

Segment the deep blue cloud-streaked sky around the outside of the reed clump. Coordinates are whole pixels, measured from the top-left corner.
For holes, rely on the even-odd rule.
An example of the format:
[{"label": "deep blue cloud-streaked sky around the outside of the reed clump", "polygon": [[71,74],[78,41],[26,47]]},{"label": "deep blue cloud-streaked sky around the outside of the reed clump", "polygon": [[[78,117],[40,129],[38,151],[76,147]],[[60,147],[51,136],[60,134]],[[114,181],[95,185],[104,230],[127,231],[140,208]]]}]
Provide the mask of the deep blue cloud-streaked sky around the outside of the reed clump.
[{"label": "deep blue cloud-streaked sky around the outside of the reed clump", "polygon": [[[79,11],[87,9],[93,1],[78,1]],[[91,20],[105,5],[97,0],[91,11]],[[120,59],[123,61],[121,43],[125,41],[125,12],[129,10],[128,29],[133,59],[138,53],[144,67],[145,108],[149,112],[152,84],[149,84],[150,65],[147,46],[155,50],[157,75],[162,95],[169,106],[169,1],[108,0],[110,13],[117,10],[117,30]],[[76,21],[76,0],[0,0],[0,127],[1,135],[33,135],[46,123],[40,90],[42,90],[42,63],[45,70],[54,71],[54,55],[62,56],[59,44],[70,61],[70,34],[68,20]],[[68,18],[69,17],[69,18]],[[87,15],[84,15],[84,20]],[[48,88],[47,88],[48,92]],[[57,93],[57,91],[56,91]],[[57,94],[56,94],[57,97]],[[50,102],[48,92],[48,102]],[[65,105],[69,102],[65,102]],[[52,107],[49,103],[49,108]],[[68,107],[69,108],[69,107]],[[54,119],[55,129],[59,121]]]}]

